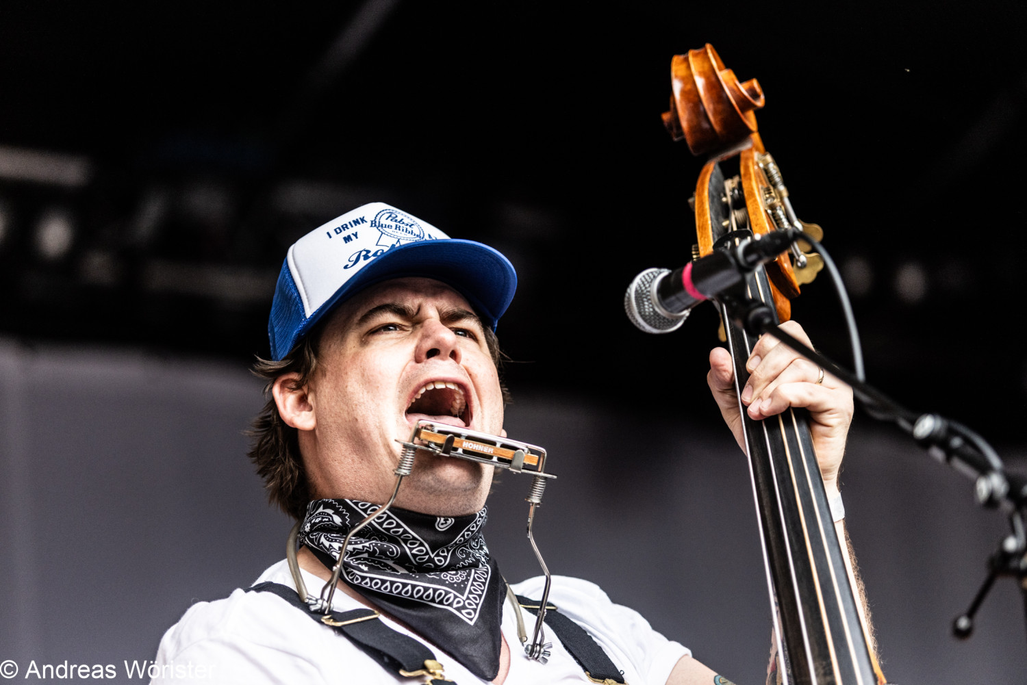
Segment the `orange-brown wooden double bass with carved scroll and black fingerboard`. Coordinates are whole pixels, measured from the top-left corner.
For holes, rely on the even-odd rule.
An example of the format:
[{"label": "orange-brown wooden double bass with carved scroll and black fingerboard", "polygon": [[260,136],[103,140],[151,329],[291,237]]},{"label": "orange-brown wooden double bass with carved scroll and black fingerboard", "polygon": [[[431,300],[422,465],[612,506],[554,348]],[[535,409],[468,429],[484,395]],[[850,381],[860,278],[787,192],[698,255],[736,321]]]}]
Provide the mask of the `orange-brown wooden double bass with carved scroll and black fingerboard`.
[{"label": "orange-brown wooden double bass with carved scroll and black fingerboard", "polygon": [[[693,257],[770,231],[800,229],[819,241],[820,227],[795,216],[781,169],[757,130],[764,94],[755,80],[740,82],[709,43],[671,64],[673,94],[663,123],[694,155],[705,155],[690,204],[697,244]],[[772,305],[777,322],[791,316],[791,300],[823,266],[799,243],[747,277],[745,296]],[[734,365],[735,389],[748,381],[746,360],[756,338],[731,320],[718,302],[723,337]],[[806,421],[790,409],[764,420],[740,406],[777,654],[800,685],[883,685],[829,508]]]}]

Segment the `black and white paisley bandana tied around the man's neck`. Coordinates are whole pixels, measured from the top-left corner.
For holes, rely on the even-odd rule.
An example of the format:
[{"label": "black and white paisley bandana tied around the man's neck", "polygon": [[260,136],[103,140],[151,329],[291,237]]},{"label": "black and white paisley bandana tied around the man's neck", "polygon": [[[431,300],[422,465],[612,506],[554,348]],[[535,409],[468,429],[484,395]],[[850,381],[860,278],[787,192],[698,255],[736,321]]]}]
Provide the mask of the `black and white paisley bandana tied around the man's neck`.
[{"label": "black and white paisley bandana tied around the man's neck", "polygon": [[[300,539],[331,569],[349,529],[378,504],[315,499]],[[390,508],[349,540],[342,578],[388,614],[453,655],[472,674],[499,674],[506,594],[482,528],[486,509],[435,517]]]}]

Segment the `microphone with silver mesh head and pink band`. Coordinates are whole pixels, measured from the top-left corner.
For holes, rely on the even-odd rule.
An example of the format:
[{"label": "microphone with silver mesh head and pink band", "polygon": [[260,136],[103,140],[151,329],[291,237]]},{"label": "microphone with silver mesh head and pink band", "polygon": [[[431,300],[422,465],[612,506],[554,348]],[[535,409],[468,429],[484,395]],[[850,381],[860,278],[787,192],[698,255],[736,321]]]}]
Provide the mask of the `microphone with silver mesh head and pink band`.
[{"label": "microphone with silver mesh head and pink band", "polygon": [[675,269],[646,269],[624,294],[624,311],[645,333],[671,333],[692,308],[741,282],[746,274],[777,258],[802,237],[801,231],[771,231]]}]

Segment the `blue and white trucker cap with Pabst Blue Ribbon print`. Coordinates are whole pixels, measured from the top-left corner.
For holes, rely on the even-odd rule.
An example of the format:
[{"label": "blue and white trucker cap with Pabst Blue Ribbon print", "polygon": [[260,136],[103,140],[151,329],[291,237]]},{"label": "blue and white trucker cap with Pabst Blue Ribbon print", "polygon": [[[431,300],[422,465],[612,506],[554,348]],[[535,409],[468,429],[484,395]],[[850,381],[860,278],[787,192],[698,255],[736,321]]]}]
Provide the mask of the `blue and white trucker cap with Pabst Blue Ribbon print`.
[{"label": "blue and white trucker cap with Pabst Blue Ribbon print", "polygon": [[492,330],[517,290],[514,265],[496,250],[451,238],[406,212],[371,202],[315,228],[289,249],[267,326],[271,358],[289,354],[336,304],[404,276],[450,286]]}]

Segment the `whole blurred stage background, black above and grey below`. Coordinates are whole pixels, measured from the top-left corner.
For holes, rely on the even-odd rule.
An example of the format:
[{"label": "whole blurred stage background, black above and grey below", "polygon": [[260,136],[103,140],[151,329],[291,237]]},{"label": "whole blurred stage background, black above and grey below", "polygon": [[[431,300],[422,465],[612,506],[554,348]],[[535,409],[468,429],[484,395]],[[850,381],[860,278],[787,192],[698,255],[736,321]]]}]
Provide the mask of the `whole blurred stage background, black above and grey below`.
[{"label": "whole blurred stage background, black above and grey below", "polygon": [[[561,475],[550,567],[761,682],[751,495],[703,382],[716,315],[649,337],[621,312],[694,241],[701,164],[658,115],[671,55],[707,41],[766,92],[870,380],[1027,469],[1027,6],[694,4],[0,5],[0,660],[149,658],[192,600],[280,556],[245,367],[288,245],[383,200],[518,268],[507,429]],[[797,318],[847,361],[826,279],[805,290]],[[1004,532],[971,483],[865,415],[843,481],[889,678],[1024,682],[1012,581],[948,636]],[[526,488],[505,479],[490,523],[508,576],[533,573]]]}]

